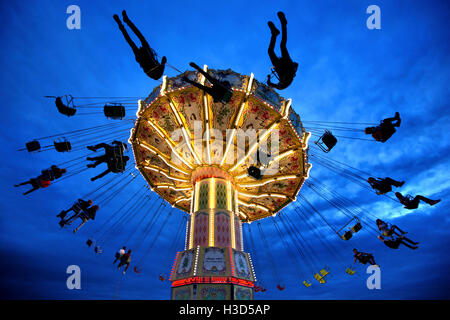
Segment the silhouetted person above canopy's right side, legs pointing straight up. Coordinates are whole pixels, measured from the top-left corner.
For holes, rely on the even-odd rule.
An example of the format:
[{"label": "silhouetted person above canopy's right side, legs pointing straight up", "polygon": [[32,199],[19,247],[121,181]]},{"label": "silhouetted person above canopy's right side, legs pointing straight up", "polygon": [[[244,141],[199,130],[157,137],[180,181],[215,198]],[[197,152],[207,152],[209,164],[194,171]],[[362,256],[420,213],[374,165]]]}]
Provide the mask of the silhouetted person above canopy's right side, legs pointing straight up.
[{"label": "silhouetted person above canopy's right side, legs pointing straight up", "polygon": [[289,53],[286,48],[286,42],[287,42],[287,20],[284,16],[284,13],[279,11],[278,12],[278,18],[281,22],[281,43],[280,43],[280,49],[281,49],[281,58],[277,57],[275,54],[275,42],[277,40],[277,36],[280,34],[280,30],[278,30],[272,21],[269,21],[267,24],[269,25],[270,31],[272,32],[272,37],[270,38],[270,44],[269,44],[269,57],[270,61],[273,64],[273,69],[275,72],[275,76],[278,78],[279,82],[278,84],[272,83],[270,81],[271,75],[269,74],[267,76],[267,84],[275,89],[286,89],[289,87],[289,85],[294,80],[295,74],[297,72],[298,63],[293,62],[291,57],[289,56]]}]

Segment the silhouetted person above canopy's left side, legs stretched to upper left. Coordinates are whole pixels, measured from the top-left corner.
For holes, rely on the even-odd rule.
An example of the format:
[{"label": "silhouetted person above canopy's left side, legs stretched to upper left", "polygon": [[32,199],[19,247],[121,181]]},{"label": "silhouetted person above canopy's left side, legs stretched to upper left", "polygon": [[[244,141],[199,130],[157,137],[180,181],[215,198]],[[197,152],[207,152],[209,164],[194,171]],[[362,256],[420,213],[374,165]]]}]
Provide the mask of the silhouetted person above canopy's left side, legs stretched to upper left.
[{"label": "silhouetted person above canopy's left side, legs stretched to upper left", "polygon": [[125,27],[120,21],[119,16],[115,14],[113,18],[119,25],[119,29],[120,31],[122,31],[125,40],[130,45],[131,49],[133,49],[136,61],[144,70],[145,74],[147,74],[150,78],[154,80],[158,80],[164,73],[164,68],[167,62],[166,57],[165,56],[162,57],[161,63],[159,63],[158,59],[156,58],[155,51],[152,48],[150,48],[147,40],[145,40],[142,33],[139,31],[138,28],[136,28],[133,22],[130,21],[125,10],[122,11],[122,17],[123,21],[130,27],[131,30],[133,30],[133,32],[136,34],[136,36],[139,38],[142,44],[142,47],[138,48],[136,46],[136,44],[133,42],[133,40],[131,40],[130,36],[128,35],[128,32],[125,30]]}]

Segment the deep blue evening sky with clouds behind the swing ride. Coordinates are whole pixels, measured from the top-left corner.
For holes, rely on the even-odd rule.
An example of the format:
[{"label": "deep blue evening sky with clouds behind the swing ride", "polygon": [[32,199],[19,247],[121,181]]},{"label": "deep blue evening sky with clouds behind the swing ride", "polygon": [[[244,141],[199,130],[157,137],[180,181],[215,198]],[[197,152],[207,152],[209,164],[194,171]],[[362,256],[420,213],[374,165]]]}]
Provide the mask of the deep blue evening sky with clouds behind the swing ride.
[{"label": "deep blue evening sky with clouds behind the swing ride", "polygon": [[[66,28],[66,8],[71,4],[81,8],[81,30]],[[366,8],[371,4],[381,8],[381,30],[366,28]],[[169,283],[157,277],[170,272],[175,250],[169,250],[183,219],[179,210],[173,210],[156,240],[159,225],[136,250],[133,262],[153,246],[140,274],[130,269],[123,276],[112,265],[114,252],[137,227],[140,216],[128,221],[127,228],[112,229],[103,244],[103,255],[95,255],[84,244],[129,195],[142,189],[141,177],[101,208],[97,219],[76,235],[69,229],[61,230],[55,215],[110,177],[90,182],[94,172],[91,169],[26,197],[22,196],[26,187],[13,187],[51,164],[84,154],[18,152],[25,142],[113,121],[101,114],[67,118],[57,113],[53,102],[44,95],[143,97],[159,84],[142,72],[112,19],[123,9],[150,45],[176,68],[190,69],[188,63],[195,61],[214,69],[253,72],[261,81],[271,66],[267,21],[279,26],[276,13],[284,11],[288,49],[299,62],[299,69],[293,84],[280,94],[293,99],[293,108],[302,119],[378,122],[395,111],[402,116],[401,127],[387,143],[340,139],[329,157],[374,176],[405,180],[400,189],[403,193],[442,199],[434,207],[421,204],[417,210],[406,210],[316,164],[311,170],[313,178],[358,202],[371,215],[407,230],[408,236],[420,241],[420,248],[392,250],[366,230],[344,243],[312,219],[323,240],[338,250],[338,261],[288,208],[285,214],[303,230],[313,253],[307,261],[299,257],[301,267],[292,263],[292,253],[284,248],[272,219],[264,219],[261,227],[271,244],[269,250],[277,269],[274,271],[268,248],[263,246],[257,224],[253,223],[256,248],[250,248],[250,252],[253,261],[258,262],[257,277],[268,288],[256,294],[256,299],[449,298],[449,3],[381,0],[2,1],[1,298],[170,298]],[[175,76],[177,72],[167,68],[166,74]],[[366,138],[363,134],[360,137]],[[305,187],[302,192],[324,216],[336,223],[345,221],[341,213],[311,190]],[[151,195],[149,203],[155,199]],[[158,222],[162,223],[163,218]],[[176,250],[183,249],[184,227],[182,231],[174,245]],[[138,235],[134,238],[139,240]],[[244,246],[249,249],[249,242]],[[353,277],[344,273],[352,263],[353,247],[374,254],[381,265],[381,290],[367,289],[362,266]],[[317,266],[331,268],[327,284],[315,282],[311,288],[301,285],[304,276],[311,279],[306,268],[311,259]],[[81,290],[66,288],[66,268],[73,264],[82,270]],[[286,290],[275,288],[279,281]]]}]

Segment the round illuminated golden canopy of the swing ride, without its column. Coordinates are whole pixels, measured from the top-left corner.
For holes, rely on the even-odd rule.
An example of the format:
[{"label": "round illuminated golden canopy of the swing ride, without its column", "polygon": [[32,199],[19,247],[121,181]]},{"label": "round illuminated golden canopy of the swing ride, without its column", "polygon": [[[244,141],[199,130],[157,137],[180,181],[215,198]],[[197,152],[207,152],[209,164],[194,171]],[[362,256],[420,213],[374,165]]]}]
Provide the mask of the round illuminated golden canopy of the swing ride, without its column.
[{"label": "round illuminated golden canopy of the swing ride, without its column", "polygon": [[[221,178],[235,190],[242,221],[273,215],[295,201],[308,177],[310,134],[291,100],[253,74],[209,72],[231,84],[233,96],[227,103],[215,103],[184,82],[186,76],[207,85],[203,75],[191,71],[164,77],[139,101],[129,141],[137,167],[153,191],[188,213],[196,181]],[[251,166],[261,170],[260,179],[249,175]]]}]

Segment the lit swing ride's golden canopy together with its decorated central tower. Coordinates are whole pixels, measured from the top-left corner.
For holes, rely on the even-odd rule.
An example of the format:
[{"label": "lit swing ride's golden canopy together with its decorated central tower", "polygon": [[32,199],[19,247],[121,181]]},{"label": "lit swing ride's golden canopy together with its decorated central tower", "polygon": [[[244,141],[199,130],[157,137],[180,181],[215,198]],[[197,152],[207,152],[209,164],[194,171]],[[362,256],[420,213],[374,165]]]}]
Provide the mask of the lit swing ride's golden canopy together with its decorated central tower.
[{"label": "lit swing ride's golden canopy together with its decorated central tower", "polygon": [[[172,299],[253,299],[256,277],[242,223],[274,216],[296,200],[311,169],[310,134],[291,100],[253,74],[209,73],[231,84],[229,101],[214,102],[183,80],[204,84],[200,73],[164,77],[139,101],[129,143],[151,190],[190,216],[185,250],[176,254],[170,275]],[[242,145],[245,129],[262,133]],[[252,162],[273,149],[267,148],[272,134],[279,140],[276,153],[264,164]]]}]

